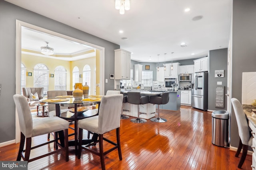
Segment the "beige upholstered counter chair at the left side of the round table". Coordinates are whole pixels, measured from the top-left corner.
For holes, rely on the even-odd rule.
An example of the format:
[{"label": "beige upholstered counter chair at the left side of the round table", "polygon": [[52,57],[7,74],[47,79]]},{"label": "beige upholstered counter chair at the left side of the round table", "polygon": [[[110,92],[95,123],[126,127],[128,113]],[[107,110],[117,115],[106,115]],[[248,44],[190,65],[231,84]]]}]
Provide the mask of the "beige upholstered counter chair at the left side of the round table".
[{"label": "beige upholstered counter chair at the left side of the round table", "polygon": [[[44,119],[32,119],[31,111],[28,106],[28,102],[26,98],[22,95],[15,94],[13,96],[14,102],[16,105],[16,109],[18,112],[18,119],[20,123],[20,147],[18,151],[17,160],[21,160],[21,158],[25,161],[31,162],[43,157],[46,157],[50,154],[54,154],[57,152],[62,152],[65,150],[66,161],[68,161],[68,121],[61,119],[60,117],[47,117]],[[58,143],[58,137],[55,137],[54,140],[48,141],[46,143],[31,147],[32,137],[36,137],[39,135],[44,135],[48,133],[55,132],[57,135],[57,131],[64,130],[64,147]],[[26,149],[24,150],[24,144],[26,139]],[[60,147],[60,149],[56,149],[50,151],[44,155],[40,155],[34,158],[30,158],[30,151],[32,149],[42,147],[44,145],[48,145],[49,143],[55,142],[55,145]],[[46,149],[48,150],[48,149]]]}]

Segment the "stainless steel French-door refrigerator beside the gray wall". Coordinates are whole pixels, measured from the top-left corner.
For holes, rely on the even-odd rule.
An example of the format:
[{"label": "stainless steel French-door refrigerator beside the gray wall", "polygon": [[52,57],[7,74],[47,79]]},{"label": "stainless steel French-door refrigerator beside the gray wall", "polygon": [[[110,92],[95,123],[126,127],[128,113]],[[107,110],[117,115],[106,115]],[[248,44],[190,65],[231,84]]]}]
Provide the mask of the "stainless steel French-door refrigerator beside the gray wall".
[{"label": "stainless steel French-door refrigerator beside the gray wall", "polygon": [[191,106],[207,110],[208,72],[194,73],[191,84]]}]

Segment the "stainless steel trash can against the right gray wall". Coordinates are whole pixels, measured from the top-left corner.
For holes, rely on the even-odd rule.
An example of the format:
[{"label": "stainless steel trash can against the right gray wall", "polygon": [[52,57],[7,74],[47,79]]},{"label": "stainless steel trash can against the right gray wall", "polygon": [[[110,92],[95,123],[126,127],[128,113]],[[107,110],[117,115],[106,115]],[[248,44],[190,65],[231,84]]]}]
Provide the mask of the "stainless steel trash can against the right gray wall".
[{"label": "stainless steel trash can against the right gray wall", "polygon": [[229,147],[228,122],[228,111],[217,110],[212,112],[212,144],[219,147]]}]

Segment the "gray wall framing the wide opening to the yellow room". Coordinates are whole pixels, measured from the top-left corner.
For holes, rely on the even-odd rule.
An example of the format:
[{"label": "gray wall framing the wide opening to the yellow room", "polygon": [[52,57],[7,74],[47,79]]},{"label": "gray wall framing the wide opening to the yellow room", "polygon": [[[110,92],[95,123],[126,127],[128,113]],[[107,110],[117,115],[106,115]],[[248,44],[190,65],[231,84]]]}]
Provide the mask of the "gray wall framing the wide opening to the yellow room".
[{"label": "gray wall framing the wide opening to the yellow room", "polygon": [[[109,74],[114,73],[114,49],[120,48],[119,45],[0,0],[0,143],[15,139],[15,104],[12,96],[15,94],[16,20],[104,47],[104,79],[109,79]],[[113,87],[114,81],[105,83],[105,94]]]}]

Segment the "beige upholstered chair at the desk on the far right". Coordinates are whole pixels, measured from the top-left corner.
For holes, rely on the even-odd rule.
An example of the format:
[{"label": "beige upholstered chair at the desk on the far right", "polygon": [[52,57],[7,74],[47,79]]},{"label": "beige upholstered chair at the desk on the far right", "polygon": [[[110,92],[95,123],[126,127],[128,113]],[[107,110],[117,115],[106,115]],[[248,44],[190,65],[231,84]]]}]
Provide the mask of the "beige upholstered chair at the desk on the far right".
[{"label": "beige upholstered chair at the desk on the far right", "polygon": [[238,134],[240,137],[239,145],[236,150],[235,156],[238,157],[241,150],[243,149],[242,156],[238,164],[238,168],[241,168],[247,155],[248,146],[252,146],[253,136],[250,136],[250,128],[248,126],[246,115],[244,113],[241,103],[236,98],[232,98],[231,102],[236,115],[236,123],[238,126]]}]

